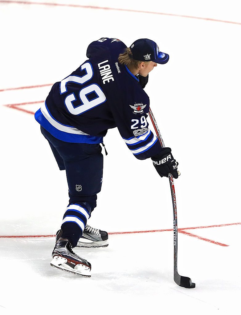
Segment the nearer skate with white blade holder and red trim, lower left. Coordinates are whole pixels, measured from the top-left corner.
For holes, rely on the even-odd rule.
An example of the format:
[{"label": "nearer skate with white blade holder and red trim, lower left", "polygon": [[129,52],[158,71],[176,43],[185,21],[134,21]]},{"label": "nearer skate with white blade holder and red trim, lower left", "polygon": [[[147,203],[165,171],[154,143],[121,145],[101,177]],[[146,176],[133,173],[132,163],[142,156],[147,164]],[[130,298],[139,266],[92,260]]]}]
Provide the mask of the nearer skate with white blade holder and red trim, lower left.
[{"label": "nearer skate with white blade holder and red trim, lower left", "polygon": [[73,252],[70,241],[62,238],[61,232],[61,230],[57,232],[56,244],[52,252],[53,259],[50,265],[82,277],[91,277],[91,264]]}]

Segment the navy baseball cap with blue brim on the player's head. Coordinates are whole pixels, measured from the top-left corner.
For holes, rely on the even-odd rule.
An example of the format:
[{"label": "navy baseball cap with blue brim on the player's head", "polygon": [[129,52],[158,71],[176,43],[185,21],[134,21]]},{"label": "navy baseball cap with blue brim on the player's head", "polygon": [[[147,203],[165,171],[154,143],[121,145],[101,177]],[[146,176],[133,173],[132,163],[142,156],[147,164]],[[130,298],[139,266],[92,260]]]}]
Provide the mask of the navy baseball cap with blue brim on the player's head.
[{"label": "navy baseball cap with blue brim on the player's head", "polygon": [[139,61],[153,61],[164,65],[169,55],[162,53],[155,42],[148,38],[141,38],[131,45],[132,58]]}]

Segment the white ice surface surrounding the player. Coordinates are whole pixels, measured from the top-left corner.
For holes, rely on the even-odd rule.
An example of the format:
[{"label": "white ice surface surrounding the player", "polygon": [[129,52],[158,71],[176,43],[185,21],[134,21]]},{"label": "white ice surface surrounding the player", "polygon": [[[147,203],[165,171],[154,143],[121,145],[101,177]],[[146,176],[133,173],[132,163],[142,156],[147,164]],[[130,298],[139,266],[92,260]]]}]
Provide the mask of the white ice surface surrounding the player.
[{"label": "white ice surface surrounding the player", "polygon": [[[49,2],[241,23],[234,0]],[[170,60],[150,73],[145,90],[179,162],[178,226],[241,222],[240,24],[0,1],[0,29],[0,90],[60,81],[103,36],[128,46],[137,38],[155,40]],[[55,234],[68,203],[65,173],[33,115],[4,106],[44,100],[49,90],[0,92],[2,236]],[[109,130],[105,145],[102,191],[89,224],[109,232],[171,229],[168,179],[158,177],[150,161],[135,159],[117,130]],[[173,282],[171,231],[110,235],[105,249],[76,249],[91,262],[90,279],[50,267],[54,238],[0,238],[0,314],[239,312],[240,225],[186,231],[229,245],[179,234],[178,269],[196,282],[191,290]]]}]

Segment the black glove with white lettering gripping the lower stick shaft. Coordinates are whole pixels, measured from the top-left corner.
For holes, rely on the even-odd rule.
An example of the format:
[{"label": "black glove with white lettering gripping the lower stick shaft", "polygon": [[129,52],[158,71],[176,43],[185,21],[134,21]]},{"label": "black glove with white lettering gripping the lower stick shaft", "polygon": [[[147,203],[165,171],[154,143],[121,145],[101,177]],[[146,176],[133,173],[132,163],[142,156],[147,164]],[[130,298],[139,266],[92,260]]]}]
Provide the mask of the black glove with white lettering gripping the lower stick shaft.
[{"label": "black glove with white lettering gripping the lower stick shaft", "polygon": [[153,165],[157,173],[163,177],[168,177],[168,173],[172,174],[174,178],[178,178],[177,166],[178,162],[174,160],[170,148],[163,148],[162,152],[154,157],[151,157]]}]

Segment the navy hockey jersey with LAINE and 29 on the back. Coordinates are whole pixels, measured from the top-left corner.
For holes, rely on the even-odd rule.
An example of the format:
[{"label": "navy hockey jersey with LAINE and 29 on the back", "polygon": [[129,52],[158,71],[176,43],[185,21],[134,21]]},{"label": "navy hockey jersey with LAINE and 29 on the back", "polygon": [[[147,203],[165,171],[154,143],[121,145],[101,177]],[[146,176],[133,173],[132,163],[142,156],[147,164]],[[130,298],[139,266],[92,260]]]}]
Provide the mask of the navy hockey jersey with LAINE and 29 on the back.
[{"label": "navy hockey jersey with LAINE and 29 on the back", "polygon": [[149,97],[139,80],[118,63],[126,45],[103,37],[87,48],[78,69],[56,82],[35,119],[54,137],[66,142],[102,143],[107,130],[117,127],[138,159],[161,151],[148,128]]}]

